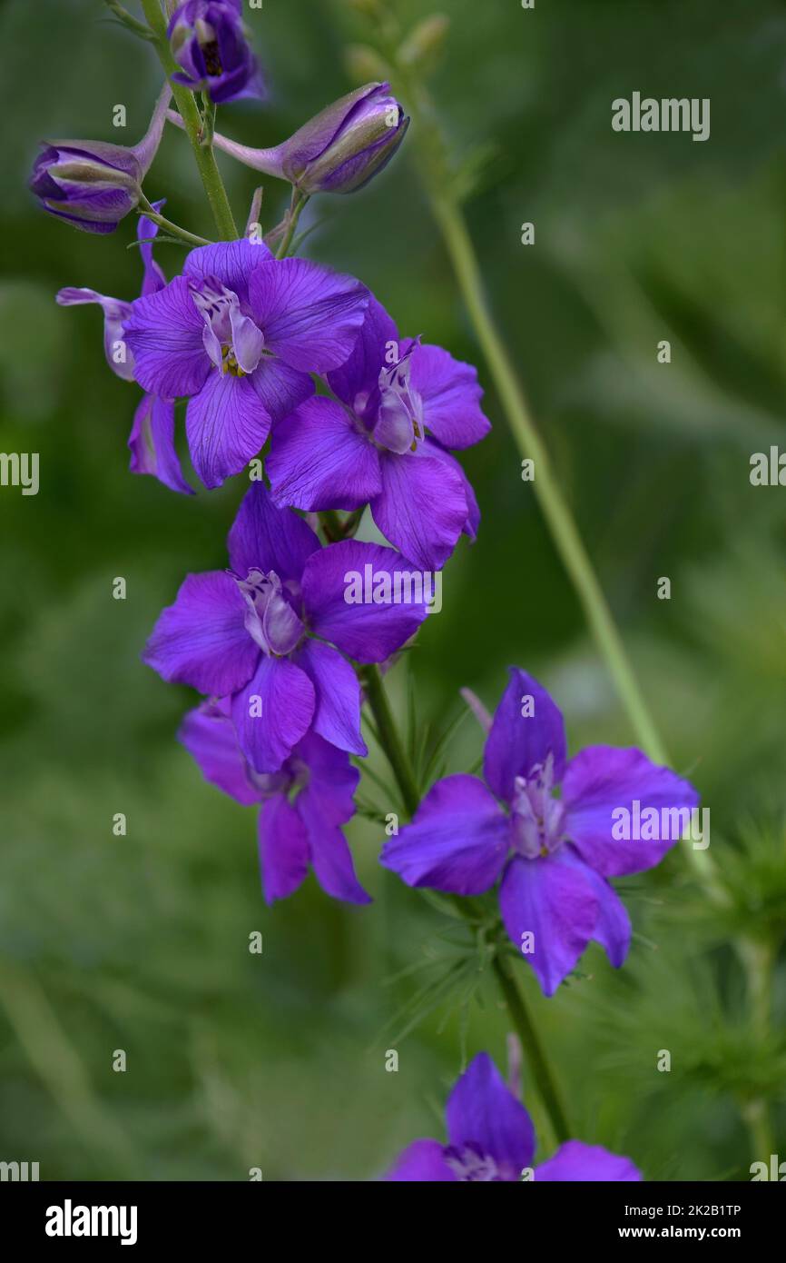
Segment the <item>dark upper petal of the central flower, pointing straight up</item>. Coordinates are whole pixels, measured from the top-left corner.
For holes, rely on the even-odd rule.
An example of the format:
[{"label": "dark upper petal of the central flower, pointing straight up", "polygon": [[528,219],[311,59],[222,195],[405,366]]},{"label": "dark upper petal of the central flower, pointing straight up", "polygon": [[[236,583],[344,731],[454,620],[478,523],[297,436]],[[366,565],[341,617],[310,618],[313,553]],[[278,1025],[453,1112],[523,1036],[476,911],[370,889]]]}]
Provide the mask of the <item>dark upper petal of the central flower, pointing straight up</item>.
[{"label": "dark upper petal of the central flower, pointing straight up", "polygon": [[274,570],[290,584],[300,582],[308,558],[320,548],[303,518],[276,508],[262,482],[252,482],[243,495],[227,543],[230,565],[241,578],[250,570]]}]

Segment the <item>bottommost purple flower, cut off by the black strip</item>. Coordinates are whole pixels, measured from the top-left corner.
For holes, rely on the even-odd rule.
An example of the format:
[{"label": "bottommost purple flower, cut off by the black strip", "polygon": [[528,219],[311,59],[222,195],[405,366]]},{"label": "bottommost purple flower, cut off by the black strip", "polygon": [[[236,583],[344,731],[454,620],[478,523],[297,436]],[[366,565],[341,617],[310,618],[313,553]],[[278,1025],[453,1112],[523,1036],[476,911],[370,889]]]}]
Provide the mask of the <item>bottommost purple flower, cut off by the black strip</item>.
[{"label": "bottommost purple flower, cut off by the black strip", "polygon": [[487,1052],[469,1062],[448,1098],[448,1143],[415,1140],[400,1156],[390,1181],[484,1182],[521,1180],[531,1171],[543,1181],[640,1181],[630,1158],[598,1144],[566,1140],[554,1157],[532,1168],[535,1129]]}]

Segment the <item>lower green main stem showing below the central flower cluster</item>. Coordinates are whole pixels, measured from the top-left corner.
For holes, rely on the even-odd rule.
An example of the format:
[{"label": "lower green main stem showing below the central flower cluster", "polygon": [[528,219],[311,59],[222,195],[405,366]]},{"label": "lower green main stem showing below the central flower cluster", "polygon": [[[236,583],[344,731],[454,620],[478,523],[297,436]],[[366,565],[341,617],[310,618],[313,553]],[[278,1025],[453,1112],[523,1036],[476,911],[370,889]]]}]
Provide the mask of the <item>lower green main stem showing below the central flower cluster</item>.
[{"label": "lower green main stem showing below the central flower cluster", "polygon": [[[390,709],[390,702],[387,701],[380,668],[376,666],[365,667],[362,671],[362,682],[366,688],[366,701],[373,715],[385,757],[396,778],[401,799],[409,816],[414,816],[420,805],[420,793],[394,714]],[[459,902],[457,902],[457,907],[462,911]],[[511,1024],[521,1039],[537,1092],[549,1114],[555,1139],[561,1144],[563,1140],[569,1139],[570,1130],[535,1023],[510,971],[508,962],[501,955],[496,955],[492,967],[502,993],[502,999],[507,1007]]]}]

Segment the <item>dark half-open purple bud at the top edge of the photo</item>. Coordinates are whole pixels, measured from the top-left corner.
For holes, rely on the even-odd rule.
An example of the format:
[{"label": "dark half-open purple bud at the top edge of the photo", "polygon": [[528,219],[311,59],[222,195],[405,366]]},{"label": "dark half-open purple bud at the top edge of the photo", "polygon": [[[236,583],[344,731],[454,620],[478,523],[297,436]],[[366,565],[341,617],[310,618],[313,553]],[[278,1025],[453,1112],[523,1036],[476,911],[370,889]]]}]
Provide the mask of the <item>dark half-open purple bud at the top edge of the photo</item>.
[{"label": "dark half-open purple bud at the top edge of the photo", "polygon": [[211,101],[265,95],[259,63],[246,43],[241,0],[185,0],[167,28],[172,54],[180,66],[173,75]]}]

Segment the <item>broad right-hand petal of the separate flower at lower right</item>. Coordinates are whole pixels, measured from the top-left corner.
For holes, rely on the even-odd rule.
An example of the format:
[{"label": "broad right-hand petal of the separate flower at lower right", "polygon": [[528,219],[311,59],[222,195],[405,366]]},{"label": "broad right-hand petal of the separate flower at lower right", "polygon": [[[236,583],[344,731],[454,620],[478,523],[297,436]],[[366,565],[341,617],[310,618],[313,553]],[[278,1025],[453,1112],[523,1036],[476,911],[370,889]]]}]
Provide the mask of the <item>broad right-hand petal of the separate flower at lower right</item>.
[{"label": "broad right-hand petal of the separate flower at lower right", "polygon": [[[563,802],[565,834],[582,859],[604,877],[621,877],[660,864],[680,839],[676,813],[689,821],[699,794],[690,782],[670,768],[651,763],[641,750],[590,745],[565,769]],[[633,817],[636,802],[640,812],[646,808],[657,812],[657,831],[669,836],[650,841],[614,839],[614,812],[627,811]]]}]

